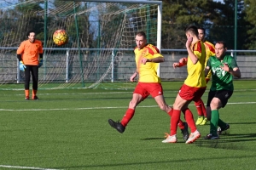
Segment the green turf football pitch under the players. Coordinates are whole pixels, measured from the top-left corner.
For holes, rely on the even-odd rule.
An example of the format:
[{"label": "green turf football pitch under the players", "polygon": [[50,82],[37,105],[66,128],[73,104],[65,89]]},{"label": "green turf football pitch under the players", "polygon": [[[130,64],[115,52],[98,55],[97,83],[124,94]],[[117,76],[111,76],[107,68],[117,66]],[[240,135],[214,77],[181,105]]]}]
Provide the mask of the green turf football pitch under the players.
[{"label": "green turf football pitch under the players", "polygon": [[[182,83],[163,82],[169,105]],[[132,91],[39,90],[40,100],[26,101],[23,90],[1,90],[0,169],[256,169],[256,81],[234,83],[230,103],[220,110],[230,131],[194,144],[185,144],[179,130],[176,144],[161,143],[170,117],[151,97],[125,133],[110,127],[109,118],[124,116]],[[196,120],[194,104],[190,109]],[[204,137],[209,123],[198,129]]]}]

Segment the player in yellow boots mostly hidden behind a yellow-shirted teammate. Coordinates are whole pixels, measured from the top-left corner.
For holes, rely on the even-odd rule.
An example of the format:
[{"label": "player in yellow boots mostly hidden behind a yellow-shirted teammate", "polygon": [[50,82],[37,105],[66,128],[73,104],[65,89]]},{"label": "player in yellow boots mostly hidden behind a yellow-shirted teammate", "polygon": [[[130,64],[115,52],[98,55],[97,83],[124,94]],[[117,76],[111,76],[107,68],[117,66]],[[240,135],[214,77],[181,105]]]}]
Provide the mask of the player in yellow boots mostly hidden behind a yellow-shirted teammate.
[{"label": "player in yellow boots mostly hidden behind a yellow-shirted teammate", "polygon": [[[202,27],[199,27],[198,29],[198,37],[201,40],[201,42],[204,42],[204,45],[206,47],[206,62],[205,62],[205,66],[207,65],[207,60],[215,55],[215,48],[214,45],[211,42],[207,42],[206,41],[206,30]],[[175,67],[181,67],[183,65],[187,65],[187,58],[182,58],[179,60],[179,63],[175,64]],[[211,71],[208,72],[207,77],[206,77],[206,81],[209,82],[209,80],[212,77],[212,73]],[[197,110],[197,114],[198,114],[198,118],[197,121],[195,122],[196,125],[205,125],[208,120],[207,120],[207,111],[206,111],[206,106],[204,105],[204,102],[202,101],[202,99],[200,99],[199,101],[195,102],[195,107]]]}]

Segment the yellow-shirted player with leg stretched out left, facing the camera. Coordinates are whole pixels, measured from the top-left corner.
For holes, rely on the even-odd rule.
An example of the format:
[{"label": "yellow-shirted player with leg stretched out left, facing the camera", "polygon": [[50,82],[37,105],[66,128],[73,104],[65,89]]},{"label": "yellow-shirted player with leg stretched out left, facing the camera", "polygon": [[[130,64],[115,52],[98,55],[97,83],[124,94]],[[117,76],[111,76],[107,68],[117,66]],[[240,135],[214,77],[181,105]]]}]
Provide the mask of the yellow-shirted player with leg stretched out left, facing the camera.
[{"label": "yellow-shirted player with leg stretched out left, facing the camera", "polygon": [[[112,119],[108,120],[110,126],[115,128],[119,133],[125,132],[125,127],[134,116],[137,105],[139,105],[144,99],[148,98],[148,95],[151,95],[155,99],[162,111],[166,111],[169,116],[172,116],[172,107],[166,105],[161,80],[160,77],[157,76],[159,63],[164,62],[165,59],[160,54],[158,48],[147,43],[145,32],[138,32],[135,37],[135,41],[137,43],[137,47],[134,49],[137,70],[130,77],[130,81],[134,82],[135,77],[139,75],[137,86],[134,89],[129,107],[121,122],[114,122]],[[179,119],[178,126],[182,129],[183,139],[187,140],[189,138],[187,124],[183,123]],[[169,143],[169,141],[164,143]]]}]

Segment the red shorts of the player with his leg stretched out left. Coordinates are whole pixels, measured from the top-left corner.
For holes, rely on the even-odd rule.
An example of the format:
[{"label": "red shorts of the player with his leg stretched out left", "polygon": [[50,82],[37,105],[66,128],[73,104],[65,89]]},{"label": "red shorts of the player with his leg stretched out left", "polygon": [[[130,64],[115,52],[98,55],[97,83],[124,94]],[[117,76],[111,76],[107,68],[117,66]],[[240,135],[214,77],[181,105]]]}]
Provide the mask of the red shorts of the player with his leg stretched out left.
[{"label": "red shorts of the player with his leg stretched out left", "polygon": [[150,94],[154,98],[163,95],[163,88],[159,82],[138,82],[133,94],[141,94],[143,99]]}]

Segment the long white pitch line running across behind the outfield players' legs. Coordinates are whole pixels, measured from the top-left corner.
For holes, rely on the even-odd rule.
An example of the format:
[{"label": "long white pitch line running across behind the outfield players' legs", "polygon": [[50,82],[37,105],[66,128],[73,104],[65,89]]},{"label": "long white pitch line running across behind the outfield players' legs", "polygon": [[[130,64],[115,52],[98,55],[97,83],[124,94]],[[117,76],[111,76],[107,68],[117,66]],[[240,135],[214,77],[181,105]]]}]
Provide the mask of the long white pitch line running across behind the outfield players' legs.
[{"label": "long white pitch line running across behind the outfield players' legs", "polygon": [[[240,103],[228,103],[227,105],[250,105],[256,104],[256,102],[240,102]],[[158,105],[142,105],[137,107],[159,107]],[[84,107],[84,108],[57,108],[57,109],[0,109],[0,111],[79,111],[79,110],[101,110],[101,109],[122,109],[127,108],[127,106],[119,107]]]}]

